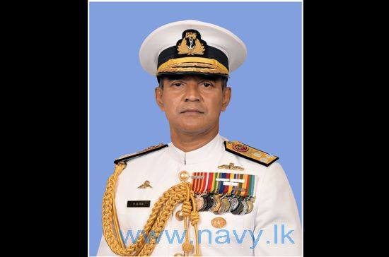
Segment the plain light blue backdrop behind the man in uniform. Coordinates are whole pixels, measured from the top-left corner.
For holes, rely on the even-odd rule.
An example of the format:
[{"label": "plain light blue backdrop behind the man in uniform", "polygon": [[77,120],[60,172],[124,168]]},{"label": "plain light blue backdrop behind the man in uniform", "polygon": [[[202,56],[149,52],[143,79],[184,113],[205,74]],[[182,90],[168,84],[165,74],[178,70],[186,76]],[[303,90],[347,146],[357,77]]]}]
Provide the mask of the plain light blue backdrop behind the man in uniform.
[{"label": "plain light blue backdrop behind the man in uniform", "polygon": [[91,255],[113,160],[170,142],[139,47],[159,26],[187,19],[220,25],[245,42],[248,57],[228,80],[233,97],[220,134],[279,156],[301,215],[301,3],[90,3]]}]

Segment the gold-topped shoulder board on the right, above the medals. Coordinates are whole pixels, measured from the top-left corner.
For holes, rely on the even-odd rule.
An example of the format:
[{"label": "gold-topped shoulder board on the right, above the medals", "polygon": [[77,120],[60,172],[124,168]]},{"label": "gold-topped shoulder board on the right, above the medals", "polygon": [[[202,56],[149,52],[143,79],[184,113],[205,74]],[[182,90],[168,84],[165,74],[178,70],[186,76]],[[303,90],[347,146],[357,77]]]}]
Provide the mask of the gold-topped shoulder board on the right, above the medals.
[{"label": "gold-topped shoulder board on the right, above the medals", "polygon": [[224,141],[224,146],[227,152],[252,160],[253,162],[265,165],[266,167],[279,160],[279,157],[277,156],[269,155],[269,153],[252,148],[251,146],[240,143],[239,141]]}]

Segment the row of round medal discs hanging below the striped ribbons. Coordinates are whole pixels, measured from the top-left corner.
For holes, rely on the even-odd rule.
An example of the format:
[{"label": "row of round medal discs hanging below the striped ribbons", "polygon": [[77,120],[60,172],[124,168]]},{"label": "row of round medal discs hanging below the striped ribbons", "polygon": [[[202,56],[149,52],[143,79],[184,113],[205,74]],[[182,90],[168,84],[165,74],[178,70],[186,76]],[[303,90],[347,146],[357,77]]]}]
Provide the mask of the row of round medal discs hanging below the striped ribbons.
[{"label": "row of round medal discs hanging below the striped ribbons", "polygon": [[251,213],[254,208],[255,198],[205,192],[196,193],[194,200],[199,212],[210,211],[215,214],[245,215]]}]

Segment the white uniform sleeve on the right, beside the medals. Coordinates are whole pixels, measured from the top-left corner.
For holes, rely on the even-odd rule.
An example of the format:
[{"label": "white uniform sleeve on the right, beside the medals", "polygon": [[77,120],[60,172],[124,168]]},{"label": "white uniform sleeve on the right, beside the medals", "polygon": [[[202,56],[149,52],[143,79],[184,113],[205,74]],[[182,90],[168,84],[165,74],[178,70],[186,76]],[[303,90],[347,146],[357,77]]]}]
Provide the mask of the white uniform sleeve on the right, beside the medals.
[{"label": "white uniform sleeve on the right, beside the medals", "polygon": [[258,239],[255,256],[301,256],[301,222],[297,205],[284,169],[278,162],[268,167],[259,190],[254,230],[254,240]]}]

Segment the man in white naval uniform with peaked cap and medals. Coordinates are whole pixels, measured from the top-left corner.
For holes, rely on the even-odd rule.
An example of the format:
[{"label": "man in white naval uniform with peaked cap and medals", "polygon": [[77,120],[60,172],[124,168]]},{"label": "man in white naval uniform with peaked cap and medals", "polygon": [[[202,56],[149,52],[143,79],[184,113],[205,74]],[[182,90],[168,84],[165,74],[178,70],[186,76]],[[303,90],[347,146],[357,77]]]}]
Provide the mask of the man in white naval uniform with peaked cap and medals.
[{"label": "man in white naval uniform with peaked cap and medals", "polygon": [[232,32],[197,20],[140,49],[172,142],[115,160],[98,256],[301,256],[301,224],[279,158],[219,135],[226,83],[246,56]]}]

